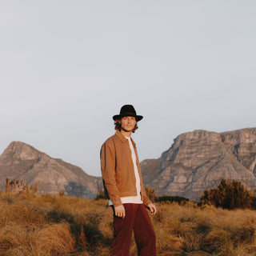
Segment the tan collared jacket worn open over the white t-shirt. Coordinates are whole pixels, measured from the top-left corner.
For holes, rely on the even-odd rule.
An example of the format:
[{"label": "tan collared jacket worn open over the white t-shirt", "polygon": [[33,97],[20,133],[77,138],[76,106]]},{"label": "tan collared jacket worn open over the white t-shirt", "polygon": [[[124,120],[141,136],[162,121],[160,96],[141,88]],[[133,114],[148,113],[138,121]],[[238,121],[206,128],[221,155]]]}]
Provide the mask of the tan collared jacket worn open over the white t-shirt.
[{"label": "tan collared jacket worn open over the white t-shirt", "polygon": [[[134,145],[138,174],[141,182],[141,194],[143,203],[148,206],[151,202],[146,196],[142,184],[142,173],[138,162],[138,153]],[[114,206],[121,206],[122,197],[136,196],[136,180],[134,174],[134,163],[131,158],[128,140],[120,131],[108,138],[101,149],[102,178],[107,198],[113,202]]]}]

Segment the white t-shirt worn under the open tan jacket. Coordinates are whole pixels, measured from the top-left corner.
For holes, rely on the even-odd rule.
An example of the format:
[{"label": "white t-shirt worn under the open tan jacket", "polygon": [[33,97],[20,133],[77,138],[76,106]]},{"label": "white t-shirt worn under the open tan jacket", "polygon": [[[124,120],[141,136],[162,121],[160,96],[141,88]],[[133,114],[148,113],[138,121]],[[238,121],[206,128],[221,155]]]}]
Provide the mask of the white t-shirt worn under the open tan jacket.
[{"label": "white t-shirt worn under the open tan jacket", "polygon": [[[128,139],[129,142],[129,146],[130,146],[130,153],[131,153],[131,158],[134,162],[134,174],[135,174],[135,180],[136,180],[136,190],[137,190],[137,195],[136,196],[131,196],[131,197],[123,197],[120,198],[122,203],[143,203],[142,202],[142,196],[141,196],[141,182],[140,182],[140,178],[139,178],[139,174],[138,174],[138,166],[137,166],[137,162],[136,162],[136,154],[134,151],[134,146],[133,143],[130,140],[130,137],[126,137]],[[112,206],[113,202],[111,200],[109,200],[109,205]]]}]

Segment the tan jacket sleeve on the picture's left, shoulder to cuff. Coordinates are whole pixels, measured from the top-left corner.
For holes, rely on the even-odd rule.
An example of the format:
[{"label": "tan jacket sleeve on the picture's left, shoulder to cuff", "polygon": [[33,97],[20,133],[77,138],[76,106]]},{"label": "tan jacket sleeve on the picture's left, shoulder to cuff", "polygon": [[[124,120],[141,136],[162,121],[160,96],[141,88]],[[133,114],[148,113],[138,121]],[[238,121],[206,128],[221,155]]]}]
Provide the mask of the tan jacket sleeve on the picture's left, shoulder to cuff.
[{"label": "tan jacket sleeve on the picture's left, shoulder to cuff", "polygon": [[115,149],[113,142],[105,142],[101,149],[101,168],[104,186],[115,206],[121,206],[118,186],[115,178]]}]

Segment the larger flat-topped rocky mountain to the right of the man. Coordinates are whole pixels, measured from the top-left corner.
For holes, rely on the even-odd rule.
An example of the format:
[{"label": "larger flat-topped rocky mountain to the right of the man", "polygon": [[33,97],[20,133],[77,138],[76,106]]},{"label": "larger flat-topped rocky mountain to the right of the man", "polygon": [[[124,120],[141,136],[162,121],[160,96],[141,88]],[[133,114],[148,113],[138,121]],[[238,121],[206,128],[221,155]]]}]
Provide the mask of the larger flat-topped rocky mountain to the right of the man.
[{"label": "larger flat-topped rocky mountain to the right of the man", "polygon": [[180,134],[158,159],[141,162],[143,182],[158,195],[198,200],[222,178],[256,190],[256,128]]}]

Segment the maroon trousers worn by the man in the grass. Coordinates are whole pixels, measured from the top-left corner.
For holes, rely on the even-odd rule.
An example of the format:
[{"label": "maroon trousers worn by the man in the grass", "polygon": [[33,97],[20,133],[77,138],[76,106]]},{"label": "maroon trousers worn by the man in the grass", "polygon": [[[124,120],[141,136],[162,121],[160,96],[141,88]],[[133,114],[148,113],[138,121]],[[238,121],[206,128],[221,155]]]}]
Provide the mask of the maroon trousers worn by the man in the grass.
[{"label": "maroon trousers worn by the man in the grass", "polygon": [[125,203],[126,218],[114,215],[112,256],[128,256],[132,231],[140,256],[155,256],[155,234],[143,204]]}]

